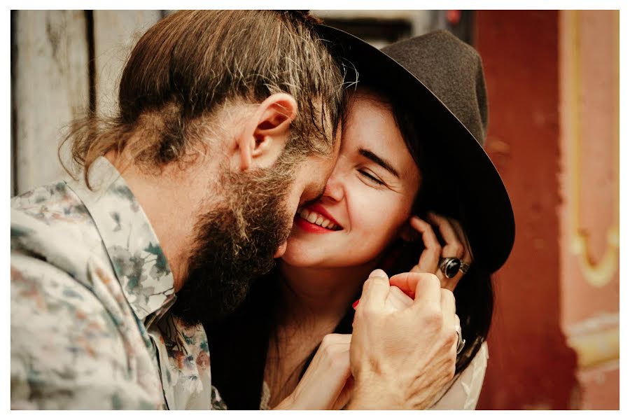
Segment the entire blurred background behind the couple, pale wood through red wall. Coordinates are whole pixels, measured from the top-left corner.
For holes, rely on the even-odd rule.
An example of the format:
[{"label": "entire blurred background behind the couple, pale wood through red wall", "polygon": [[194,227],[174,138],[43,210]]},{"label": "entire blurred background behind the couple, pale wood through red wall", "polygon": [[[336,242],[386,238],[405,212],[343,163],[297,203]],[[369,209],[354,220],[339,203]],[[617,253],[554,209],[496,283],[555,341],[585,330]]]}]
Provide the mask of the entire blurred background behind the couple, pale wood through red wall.
[{"label": "entire blurred background behind the couple, pale wood through red wall", "polygon": [[[130,48],[168,13],[11,12],[12,195],[63,176],[64,129],[115,109]],[[379,47],[447,29],[482,55],[517,236],[477,408],[618,409],[619,11],[313,13]]]}]

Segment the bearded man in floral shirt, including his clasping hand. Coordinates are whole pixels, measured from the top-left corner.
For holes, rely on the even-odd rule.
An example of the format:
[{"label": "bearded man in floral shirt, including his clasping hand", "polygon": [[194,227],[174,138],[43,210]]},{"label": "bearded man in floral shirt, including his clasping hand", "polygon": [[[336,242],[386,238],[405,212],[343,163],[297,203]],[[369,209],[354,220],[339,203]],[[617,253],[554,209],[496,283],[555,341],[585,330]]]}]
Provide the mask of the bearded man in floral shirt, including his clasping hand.
[{"label": "bearded man in floral shirt, including his clasping hand", "polygon": [[[342,86],[299,13],[182,11],[149,29],[123,71],[116,118],[92,116],[69,138],[83,176],[11,202],[12,407],[223,408],[201,322],[237,307],[282,255],[297,207],[321,195]],[[386,349],[391,363],[374,369],[379,331],[453,316],[445,305],[393,321],[380,300],[388,287],[386,276],[366,281],[353,408],[405,407],[379,389],[395,382],[405,348]],[[436,328],[427,340],[448,346],[447,336]],[[404,395],[437,391],[452,368],[414,366],[436,385]]]}]

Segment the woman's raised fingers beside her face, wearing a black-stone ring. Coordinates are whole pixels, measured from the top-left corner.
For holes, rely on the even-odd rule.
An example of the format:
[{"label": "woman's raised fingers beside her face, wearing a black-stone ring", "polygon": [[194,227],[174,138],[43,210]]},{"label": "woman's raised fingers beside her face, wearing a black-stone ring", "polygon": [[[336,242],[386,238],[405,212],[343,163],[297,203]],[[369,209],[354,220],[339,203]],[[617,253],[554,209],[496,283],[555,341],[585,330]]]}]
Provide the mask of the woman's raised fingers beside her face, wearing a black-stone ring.
[{"label": "woman's raised fingers beside her face, wearing a black-stone ring", "polygon": [[[438,267],[440,258],[455,257],[459,258],[467,265],[472,263],[472,252],[468,244],[468,238],[463,232],[461,225],[454,219],[446,218],[435,213],[428,214],[430,223],[423,221],[417,216],[409,219],[409,225],[412,226],[422,235],[424,242],[424,250],[420,254],[418,263],[410,270],[416,273],[433,273],[440,279],[442,288],[455,290],[457,283],[461,280],[464,273],[460,270],[450,279],[444,275],[444,272]],[[442,247],[435,237],[435,232],[431,225],[435,225],[439,230],[446,244]],[[403,289],[404,290],[404,289]],[[413,292],[413,290],[404,290]],[[413,297],[413,295],[412,295]]]}]

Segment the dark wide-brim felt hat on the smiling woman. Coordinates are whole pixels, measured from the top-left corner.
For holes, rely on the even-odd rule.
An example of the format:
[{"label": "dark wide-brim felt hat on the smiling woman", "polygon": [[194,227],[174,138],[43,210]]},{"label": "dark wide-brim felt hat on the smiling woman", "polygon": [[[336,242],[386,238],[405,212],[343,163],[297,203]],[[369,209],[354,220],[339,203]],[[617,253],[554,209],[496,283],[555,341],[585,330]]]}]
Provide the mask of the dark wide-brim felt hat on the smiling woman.
[{"label": "dark wide-brim felt hat on the smiling woman", "polygon": [[[496,272],[514,244],[514,212],[503,181],[482,145],[487,120],[481,59],[447,31],[434,31],[378,50],[339,29],[316,25],[346,67],[346,81],[378,81],[381,90],[432,125],[428,159],[457,194],[474,264]],[[358,79],[358,80],[357,80]],[[419,118],[420,119],[420,118]],[[419,125],[421,127],[421,125]],[[429,153],[428,153],[429,154]],[[455,255],[453,255],[455,256]]]}]

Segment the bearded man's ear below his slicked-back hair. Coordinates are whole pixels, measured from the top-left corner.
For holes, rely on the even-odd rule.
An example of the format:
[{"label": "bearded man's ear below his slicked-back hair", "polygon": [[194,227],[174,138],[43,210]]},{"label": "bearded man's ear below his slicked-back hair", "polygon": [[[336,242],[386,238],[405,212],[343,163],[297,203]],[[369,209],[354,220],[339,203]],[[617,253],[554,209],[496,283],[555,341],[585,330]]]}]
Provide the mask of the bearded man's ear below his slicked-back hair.
[{"label": "bearded man's ear below his slicked-back hair", "polygon": [[275,162],[286,146],[295,116],[297,102],[290,94],[274,93],[259,104],[237,139],[241,170],[249,169],[254,159],[260,160],[261,167]]}]

